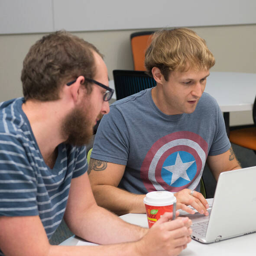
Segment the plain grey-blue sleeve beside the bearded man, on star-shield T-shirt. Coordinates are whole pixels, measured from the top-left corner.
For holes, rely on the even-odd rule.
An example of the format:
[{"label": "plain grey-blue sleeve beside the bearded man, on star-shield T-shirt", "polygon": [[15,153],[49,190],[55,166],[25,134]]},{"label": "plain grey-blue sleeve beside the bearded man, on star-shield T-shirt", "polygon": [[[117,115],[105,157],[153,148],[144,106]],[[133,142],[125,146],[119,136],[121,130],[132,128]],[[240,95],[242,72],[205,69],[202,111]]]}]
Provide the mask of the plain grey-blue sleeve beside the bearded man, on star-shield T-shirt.
[{"label": "plain grey-blue sleeve beside the bearded man, on star-shield T-shirt", "polygon": [[125,119],[115,106],[100,121],[91,158],[126,165],[129,156],[129,133]]}]

